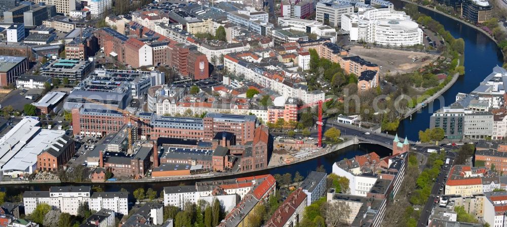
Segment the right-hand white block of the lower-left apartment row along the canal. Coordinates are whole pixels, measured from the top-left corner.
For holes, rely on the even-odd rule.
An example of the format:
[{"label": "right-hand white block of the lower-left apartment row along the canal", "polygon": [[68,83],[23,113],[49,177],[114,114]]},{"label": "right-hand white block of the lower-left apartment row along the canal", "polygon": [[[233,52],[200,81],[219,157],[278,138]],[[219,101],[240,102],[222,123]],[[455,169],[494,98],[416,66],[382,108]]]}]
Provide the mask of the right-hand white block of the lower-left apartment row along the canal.
[{"label": "right-hand white block of the lower-left apartment row along the canal", "polygon": [[90,210],[109,209],[128,215],[128,194],[125,192],[95,192],[90,197]]}]

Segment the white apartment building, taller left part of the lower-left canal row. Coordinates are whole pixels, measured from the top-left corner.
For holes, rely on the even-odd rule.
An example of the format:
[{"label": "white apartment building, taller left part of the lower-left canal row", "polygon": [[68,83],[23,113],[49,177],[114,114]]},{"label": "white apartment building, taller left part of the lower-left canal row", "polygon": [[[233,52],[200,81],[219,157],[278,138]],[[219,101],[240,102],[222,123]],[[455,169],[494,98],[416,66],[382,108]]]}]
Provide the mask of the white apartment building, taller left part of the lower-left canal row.
[{"label": "white apartment building, taller left part of the lower-left canal row", "polygon": [[89,202],[89,186],[51,187],[49,192],[26,191],[23,194],[25,214],[31,214],[40,203],[47,203],[63,213],[78,215],[79,206]]}]

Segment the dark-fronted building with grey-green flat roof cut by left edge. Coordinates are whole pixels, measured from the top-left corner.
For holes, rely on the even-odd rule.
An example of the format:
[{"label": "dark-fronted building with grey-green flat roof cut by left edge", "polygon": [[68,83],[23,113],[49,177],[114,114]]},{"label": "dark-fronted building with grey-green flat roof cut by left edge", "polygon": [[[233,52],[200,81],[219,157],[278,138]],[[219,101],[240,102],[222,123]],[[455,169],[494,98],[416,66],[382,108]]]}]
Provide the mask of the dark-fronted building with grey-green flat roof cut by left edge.
[{"label": "dark-fronted building with grey-green flat roof cut by left edge", "polygon": [[28,70],[28,59],[25,57],[0,56],[0,86],[8,86],[16,77]]}]

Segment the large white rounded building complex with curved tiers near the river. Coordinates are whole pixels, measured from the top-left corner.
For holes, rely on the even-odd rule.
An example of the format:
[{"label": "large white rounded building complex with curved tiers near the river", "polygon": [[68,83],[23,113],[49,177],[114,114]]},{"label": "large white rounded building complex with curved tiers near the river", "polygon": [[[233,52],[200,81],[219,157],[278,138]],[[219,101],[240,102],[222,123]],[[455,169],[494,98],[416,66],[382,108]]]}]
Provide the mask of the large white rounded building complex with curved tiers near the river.
[{"label": "large white rounded building complex with curved tiers near the river", "polygon": [[422,30],[405,12],[368,8],[341,17],[341,29],[350,33],[350,40],[393,47],[422,44]]}]

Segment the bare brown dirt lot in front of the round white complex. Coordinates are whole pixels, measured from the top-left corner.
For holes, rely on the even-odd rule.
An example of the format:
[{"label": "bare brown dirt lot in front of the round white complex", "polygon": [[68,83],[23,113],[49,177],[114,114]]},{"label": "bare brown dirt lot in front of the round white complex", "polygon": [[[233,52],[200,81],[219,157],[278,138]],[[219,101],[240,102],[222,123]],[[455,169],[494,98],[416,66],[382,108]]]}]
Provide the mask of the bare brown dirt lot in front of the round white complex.
[{"label": "bare brown dirt lot in front of the round white complex", "polygon": [[[438,55],[431,55],[420,52],[382,48],[366,49],[359,46],[351,47],[350,55],[358,55],[367,61],[371,61],[382,66],[382,70],[380,71],[382,76],[386,75],[387,73],[393,75],[396,73],[403,74],[406,72],[411,72],[417,68],[431,63],[438,57]],[[418,57],[419,60],[412,62],[412,58],[414,57]],[[421,59],[423,57],[429,57],[430,59],[426,60],[425,62],[421,62]],[[389,64],[387,64],[387,62],[389,62]]]}]

